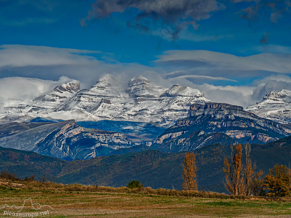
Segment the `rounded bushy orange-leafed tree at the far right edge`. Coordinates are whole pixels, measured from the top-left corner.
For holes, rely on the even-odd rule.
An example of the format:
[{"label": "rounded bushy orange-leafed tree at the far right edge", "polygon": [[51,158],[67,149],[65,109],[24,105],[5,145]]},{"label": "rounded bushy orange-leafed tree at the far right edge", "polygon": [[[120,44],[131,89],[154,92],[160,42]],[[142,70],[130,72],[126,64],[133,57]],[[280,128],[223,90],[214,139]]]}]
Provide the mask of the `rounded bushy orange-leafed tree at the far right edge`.
[{"label": "rounded bushy orange-leafed tree at the far right edge", "polygon": [[268,196],[291,196],[290,166],[275,164],[265,176],[264,187]]}]

